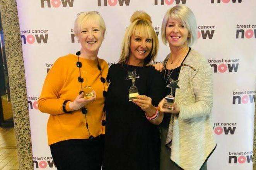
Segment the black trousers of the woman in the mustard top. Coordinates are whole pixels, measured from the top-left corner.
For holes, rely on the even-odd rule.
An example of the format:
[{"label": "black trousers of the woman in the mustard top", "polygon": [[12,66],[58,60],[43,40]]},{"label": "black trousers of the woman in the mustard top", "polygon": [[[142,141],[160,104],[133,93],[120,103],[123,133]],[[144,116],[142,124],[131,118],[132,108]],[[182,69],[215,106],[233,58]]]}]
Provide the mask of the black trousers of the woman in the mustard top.
[{"label": "black trousers of the woman in the mustard top", "polygon": [[104,135],[89,139],[71,139],[50,145],[58,170],[101,170]]}]

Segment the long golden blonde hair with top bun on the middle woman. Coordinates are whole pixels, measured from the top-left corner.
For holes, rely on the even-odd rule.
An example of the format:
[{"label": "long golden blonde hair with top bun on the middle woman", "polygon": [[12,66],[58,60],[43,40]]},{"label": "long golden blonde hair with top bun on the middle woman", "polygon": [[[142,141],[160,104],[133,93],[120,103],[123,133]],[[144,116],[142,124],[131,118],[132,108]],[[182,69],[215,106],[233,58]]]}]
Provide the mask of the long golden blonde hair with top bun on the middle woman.
[{"label": "long golden blonde hair with top bun on the middle woman", "polygon": [[145,36],[152,38],[152,49],[148,56],[144,59],[144,65],[147,65],[152,60],[155,60],[155,55],[159,47],[159,41],[157,35],[152,27],[151,17],[143,12],[136,11],[130,18],[131,24],[125,32],[125,37],[123,38],[121,55],[119,58],[119,63],[126,63],[130,57],[130,39],[132,35],[135,36]]}]

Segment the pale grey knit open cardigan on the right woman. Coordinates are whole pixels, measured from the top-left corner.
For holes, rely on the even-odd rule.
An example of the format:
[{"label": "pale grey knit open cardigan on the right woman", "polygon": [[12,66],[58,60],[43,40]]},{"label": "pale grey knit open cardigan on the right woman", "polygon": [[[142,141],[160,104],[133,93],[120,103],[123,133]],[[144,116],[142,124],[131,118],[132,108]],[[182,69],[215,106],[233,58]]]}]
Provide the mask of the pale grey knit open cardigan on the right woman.
[{"label": "pale grey knit open cardigan on the right woman", "polygon": [[[169,58],[167,55],[164,65]],[[179,73],[175,102],[179,114],[171,116],[166,144],[170,158],[185,170],[199,170],[215,150],[213,135],[212,70],[198,52],[191,49]]]}]

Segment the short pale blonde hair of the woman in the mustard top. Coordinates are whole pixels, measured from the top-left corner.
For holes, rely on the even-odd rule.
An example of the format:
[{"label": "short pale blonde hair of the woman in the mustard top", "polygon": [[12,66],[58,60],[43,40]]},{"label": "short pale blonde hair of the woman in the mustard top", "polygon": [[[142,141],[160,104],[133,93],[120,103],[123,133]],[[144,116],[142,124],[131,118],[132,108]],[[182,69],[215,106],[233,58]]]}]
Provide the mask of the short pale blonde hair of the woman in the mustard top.
[{"label": "short pale blonde hair of the woman in the mustard top", "polygon": [[99,24],[99,27],[103,31],[103,39],[104,39],[104,34],[106,32],[106,25],[98,12],[96,11],[89,11],[89,12],[82,12],[77,15],[77,18],[75,20],[75,25],[74,25],[74,33],[75,36],[77,36],[79,33],[81,33],[82,25],[84,22],[97,22]]}]

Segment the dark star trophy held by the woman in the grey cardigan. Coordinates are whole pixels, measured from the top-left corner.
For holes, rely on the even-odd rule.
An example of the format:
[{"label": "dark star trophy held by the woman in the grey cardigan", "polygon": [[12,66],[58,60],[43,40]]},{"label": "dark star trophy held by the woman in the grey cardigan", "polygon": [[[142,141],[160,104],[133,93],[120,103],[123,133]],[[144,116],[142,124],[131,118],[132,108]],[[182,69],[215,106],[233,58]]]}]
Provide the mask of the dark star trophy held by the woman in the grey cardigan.
[{"label": "dark star trophy held by the woman in the grey cardigan", "polygon": [[171,88],[171,93],[165,97],[165,102],[163,105],[163,108],[167,108],[169,110],[173,109],[173,103],[174,103],[174,97],[173,97],[173,92],[176,88],[179,88],[177,85],[179,80],[173,80],[172,78],[169,79],[170,83],[166,86],[168,88]]}]

